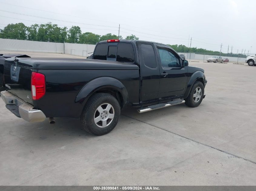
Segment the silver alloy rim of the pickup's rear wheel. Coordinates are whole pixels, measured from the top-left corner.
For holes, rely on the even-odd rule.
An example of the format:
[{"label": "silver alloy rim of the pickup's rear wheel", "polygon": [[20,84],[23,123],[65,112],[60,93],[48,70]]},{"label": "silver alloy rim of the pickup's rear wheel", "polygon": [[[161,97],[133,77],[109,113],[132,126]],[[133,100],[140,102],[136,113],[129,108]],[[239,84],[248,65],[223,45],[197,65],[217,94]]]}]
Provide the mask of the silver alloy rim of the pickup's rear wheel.
[{"label": "silver alloy rim of the pickup's rear wheel", "polygon": [[114,107],[110,103],[103,103],[94,112],[94,123],[100,128],[105,128],[111,124],[114,117]]}]

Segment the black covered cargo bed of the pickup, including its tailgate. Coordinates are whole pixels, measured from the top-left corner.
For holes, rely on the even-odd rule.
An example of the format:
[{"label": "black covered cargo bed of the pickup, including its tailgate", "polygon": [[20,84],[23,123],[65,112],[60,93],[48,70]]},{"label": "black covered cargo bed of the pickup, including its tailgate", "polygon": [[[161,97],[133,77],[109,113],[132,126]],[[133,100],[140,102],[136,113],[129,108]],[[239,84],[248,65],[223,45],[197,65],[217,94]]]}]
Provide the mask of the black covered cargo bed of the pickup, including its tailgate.
[{"label": "black covered cargo bed of the pickup, including its tailgate", "polygon": [[[45,75],[46,92],[39,100],[32,100],[32,72]],[[79,117],[83,104],[75,103],[75,99],[88,82],[99,77],[118,79],[131,92],[129,98],[138,102],[139,67],[135,64],[86,59],[8,58],[4,73],[7,90],[42,110],[46,117]]]}]

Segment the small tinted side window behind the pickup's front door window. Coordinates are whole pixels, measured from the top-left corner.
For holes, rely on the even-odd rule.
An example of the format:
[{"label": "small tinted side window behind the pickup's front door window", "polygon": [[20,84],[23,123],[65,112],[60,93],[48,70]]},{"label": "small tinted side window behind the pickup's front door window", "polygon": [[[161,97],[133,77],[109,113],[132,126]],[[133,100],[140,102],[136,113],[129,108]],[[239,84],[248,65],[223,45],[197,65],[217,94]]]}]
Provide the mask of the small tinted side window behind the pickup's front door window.
[{"label": "small tinted side window behind the pickup's front door window", "polygon": [[144,64],[150,68],[156,68],[154,49],[150,44],[141,44]]}]

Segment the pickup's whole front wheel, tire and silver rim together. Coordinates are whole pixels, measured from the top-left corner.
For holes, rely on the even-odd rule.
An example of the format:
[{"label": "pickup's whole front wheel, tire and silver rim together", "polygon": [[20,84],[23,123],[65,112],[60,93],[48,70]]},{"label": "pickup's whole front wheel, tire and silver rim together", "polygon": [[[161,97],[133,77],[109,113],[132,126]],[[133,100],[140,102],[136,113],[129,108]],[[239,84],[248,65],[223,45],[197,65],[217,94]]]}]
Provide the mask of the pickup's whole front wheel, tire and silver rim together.
[{"label": "pickup's whole front wheel, tire and silver rim together", "polygon": [[191,88],[185,104],[189,107],[198,107],[204,98],[204,85],[201,81],[196,81]]}]

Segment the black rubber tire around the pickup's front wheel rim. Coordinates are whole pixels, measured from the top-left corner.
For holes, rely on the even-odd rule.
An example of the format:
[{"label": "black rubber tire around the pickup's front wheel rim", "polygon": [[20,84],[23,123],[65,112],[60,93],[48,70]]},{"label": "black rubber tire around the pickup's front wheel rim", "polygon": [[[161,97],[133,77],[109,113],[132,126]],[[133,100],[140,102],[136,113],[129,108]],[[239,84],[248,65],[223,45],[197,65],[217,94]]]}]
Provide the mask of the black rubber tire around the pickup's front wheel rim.
[{"label": "black rubber tire around the pickup's front wheel rim", "polygon": [[[194,93],[195,93],[195,91],[196,91],[196,88],[198,88],[198,87],[201,88],[201,97],[200,97],[200,99],[196,102],[196,101],[194,100],[194,96],[193,96],[193,95],[194,95]],[[203,98],[204,98],[204,85],[202,84],[201,81],[196,81],[196,82],[194,83],[194,85],[192,86],[191,91],[190,91],[188,97],[185,99],[185,104],[186,104],[188,107],[198,107],[198,106],[200,105],[200,103],[202,102]]]}]

